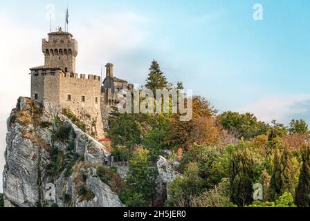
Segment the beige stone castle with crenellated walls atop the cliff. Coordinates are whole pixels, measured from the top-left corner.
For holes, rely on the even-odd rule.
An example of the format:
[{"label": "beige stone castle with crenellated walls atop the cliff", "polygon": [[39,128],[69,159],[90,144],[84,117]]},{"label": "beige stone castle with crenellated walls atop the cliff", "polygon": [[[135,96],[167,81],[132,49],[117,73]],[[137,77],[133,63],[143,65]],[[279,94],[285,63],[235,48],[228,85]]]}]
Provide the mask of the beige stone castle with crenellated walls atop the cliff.
[{"label": "beige stone castle with crenellated walls atop the cliff", "polygon": [[106,66],[106,78],[85,74],[78,75],[75,58],[78,55],[78,41],[69,32],[48,34],[48,41],[42,39],[44,66],[30,68],[31,99],[38,102],[48,100],[57,108],[69,110],[80,119],[91,122],[90,128],[99,138],[107,127],[111,108],[118,104],[118,91],[132,89],[127,81],[113,77],[113,64]]}]

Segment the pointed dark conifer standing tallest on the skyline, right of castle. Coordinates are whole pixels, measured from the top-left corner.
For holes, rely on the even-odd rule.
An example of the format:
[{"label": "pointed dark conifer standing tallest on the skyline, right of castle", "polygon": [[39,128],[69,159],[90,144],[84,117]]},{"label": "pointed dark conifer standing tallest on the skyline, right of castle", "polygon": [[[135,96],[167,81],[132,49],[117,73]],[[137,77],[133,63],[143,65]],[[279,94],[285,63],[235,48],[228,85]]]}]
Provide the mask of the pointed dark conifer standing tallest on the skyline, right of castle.
[{"label": "pointed dark conifer standing tallest on the skyline, right of castle", "polygon": [[161,68],[157,61],[152,61],[151,67],[149,68],[149,77],[147,77],[147,84],[145,87],[153,90],[155,94],[156,89],[163,89],[167,87],[167,79],[161,72]]}]

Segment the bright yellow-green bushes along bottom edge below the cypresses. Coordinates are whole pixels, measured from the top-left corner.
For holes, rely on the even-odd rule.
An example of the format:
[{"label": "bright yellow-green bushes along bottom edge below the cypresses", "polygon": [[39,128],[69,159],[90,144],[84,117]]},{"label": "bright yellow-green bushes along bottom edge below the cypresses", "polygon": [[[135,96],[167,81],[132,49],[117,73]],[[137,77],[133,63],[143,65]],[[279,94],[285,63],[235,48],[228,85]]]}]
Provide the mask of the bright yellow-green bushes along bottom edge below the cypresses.
[{"label": "bright yellow-green bushes along bottom edge below the cypresses", "polygon": [[255,201],[253,204],[247,207],[296,207],[294,202],[293,195],[291,193],[283,193],[278,200],[275,202],[261,202]]}]

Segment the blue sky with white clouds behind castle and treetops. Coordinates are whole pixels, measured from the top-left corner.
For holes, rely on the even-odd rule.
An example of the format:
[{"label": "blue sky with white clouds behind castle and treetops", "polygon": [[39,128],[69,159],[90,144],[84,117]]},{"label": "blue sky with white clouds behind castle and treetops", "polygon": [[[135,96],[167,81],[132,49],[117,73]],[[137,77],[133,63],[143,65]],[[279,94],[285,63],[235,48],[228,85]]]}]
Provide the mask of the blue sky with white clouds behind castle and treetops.
[{"label": "blue sky with white clouds behind castle and treetops", "polygon": [[[259,3],[262,20],[253,19]],[[44,64],[41,44],[64,26],[79,44],[77,72],[145,84],[153,59],[168,81],[182,81],[220,112],[310,124],[309,0],[0,0],[0,171],[6,119],[30,96],[29,68]],[[256,15],[256,14],[255,14]],[[0,180],[2,177],[0,175]],[[0,192],[2,184],[0,181]]]}]

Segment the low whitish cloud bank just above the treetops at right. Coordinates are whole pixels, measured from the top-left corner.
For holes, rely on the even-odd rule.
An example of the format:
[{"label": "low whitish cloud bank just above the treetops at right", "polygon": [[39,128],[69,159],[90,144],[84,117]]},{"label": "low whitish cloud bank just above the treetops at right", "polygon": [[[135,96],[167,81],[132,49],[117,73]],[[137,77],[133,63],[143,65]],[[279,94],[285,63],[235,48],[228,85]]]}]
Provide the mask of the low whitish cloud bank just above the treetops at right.
[{"label": "low whitish cloud bank just above the treetops at right", "polygon": [[259,119],[288,124],[290,119],[305,119],[310,122],[310,95],[268,96],[246,104],[236,111],[254,113]]}]

